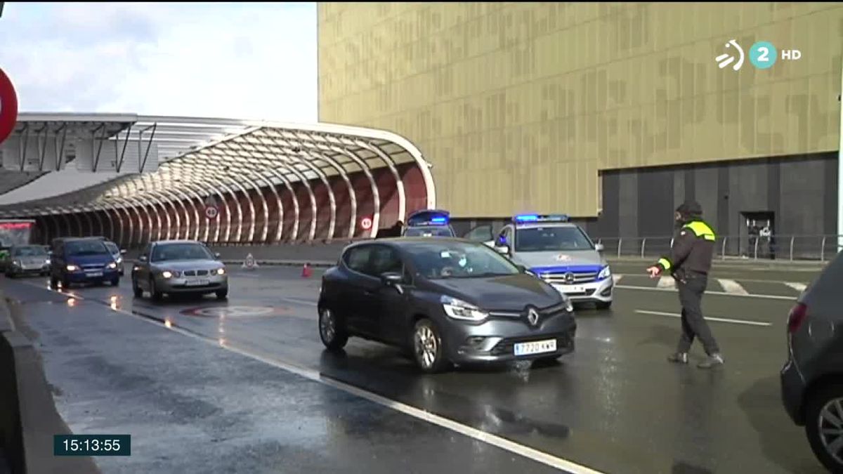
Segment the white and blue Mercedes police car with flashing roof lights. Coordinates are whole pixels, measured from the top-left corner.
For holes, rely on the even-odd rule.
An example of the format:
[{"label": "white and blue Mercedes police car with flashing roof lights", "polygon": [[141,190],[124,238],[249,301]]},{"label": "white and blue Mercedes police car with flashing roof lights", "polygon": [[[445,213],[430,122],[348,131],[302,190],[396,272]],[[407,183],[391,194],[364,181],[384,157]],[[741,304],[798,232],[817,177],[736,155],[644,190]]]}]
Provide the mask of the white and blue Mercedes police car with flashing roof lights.
[{"label": "white and blue Mercedes police car with flashing roof lights", "polygon": [[614,287],[609,264],[583,229],[566,215],[520,214],[486,245],[552,284],[573,303],[606,310]]}]

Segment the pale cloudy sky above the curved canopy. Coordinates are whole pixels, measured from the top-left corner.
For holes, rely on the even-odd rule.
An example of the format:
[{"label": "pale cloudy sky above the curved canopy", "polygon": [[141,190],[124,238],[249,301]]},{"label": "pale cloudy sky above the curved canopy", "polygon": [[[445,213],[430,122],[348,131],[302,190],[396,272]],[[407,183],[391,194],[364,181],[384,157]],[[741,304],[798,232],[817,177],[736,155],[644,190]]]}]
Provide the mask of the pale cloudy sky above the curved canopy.
[{"label": "pale cloudy sky above the curved canopy", "polygon": [[22,112],[317,121],[315,3],[6,3]]}]

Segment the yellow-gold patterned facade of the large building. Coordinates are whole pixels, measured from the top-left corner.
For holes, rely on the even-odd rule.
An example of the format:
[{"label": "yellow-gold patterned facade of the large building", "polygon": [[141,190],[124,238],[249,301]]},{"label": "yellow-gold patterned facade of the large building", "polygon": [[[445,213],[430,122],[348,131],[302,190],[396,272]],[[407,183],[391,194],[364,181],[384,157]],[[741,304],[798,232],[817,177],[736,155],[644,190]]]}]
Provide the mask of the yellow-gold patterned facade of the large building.
[{"label": "yellow-gold patterned facade of the large building", "polygon": [[319,120],[410,139],[455,216],[589,218],[604,170],[838,149],[841,51],[841,3],[319,3]]}]

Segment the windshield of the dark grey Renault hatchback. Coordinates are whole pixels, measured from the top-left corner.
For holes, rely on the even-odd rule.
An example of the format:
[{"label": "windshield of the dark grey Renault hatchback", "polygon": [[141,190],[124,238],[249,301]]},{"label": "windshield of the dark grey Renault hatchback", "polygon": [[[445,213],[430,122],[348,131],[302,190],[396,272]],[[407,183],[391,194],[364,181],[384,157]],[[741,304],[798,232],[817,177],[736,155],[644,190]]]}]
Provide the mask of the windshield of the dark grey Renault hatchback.
[{"label": "windshield of the dark grey Renault hatchback", "polygon": [[486,245],[468,242],[419,242],[405,245],[416,270],[429,279],[514,275],[518,267]]}]

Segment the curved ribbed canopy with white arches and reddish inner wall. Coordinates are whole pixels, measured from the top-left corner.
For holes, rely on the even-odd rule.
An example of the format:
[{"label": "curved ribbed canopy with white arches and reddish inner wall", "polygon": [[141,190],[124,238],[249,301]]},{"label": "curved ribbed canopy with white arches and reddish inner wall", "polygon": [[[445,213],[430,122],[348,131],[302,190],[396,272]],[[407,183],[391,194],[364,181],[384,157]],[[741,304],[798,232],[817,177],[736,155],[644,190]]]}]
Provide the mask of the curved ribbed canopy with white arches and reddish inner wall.
[{"label": "curved ribbed canopy with white arches and reddish inner wall", "polygon": [[[91,139],[93,148],[84,153],[111,148],[116,152],[110,157],[118,162],[108,164],[105,171],[114,174],[105,182],[88,181],[80,187],[68,182],[70,189],[58,189],[62,186],[39,187],[46,180],[40,178],[16,192],[32,187],[51,191],[50,196],[3,202],[0,195],[0,218],[35,218],[36,239],[44,242],[94,234],[126,247],[173,238],[217,245],[272,244],[373,237],[379,227],[436,205],[427,161],[412,143],[391,132],[323,123],[121,117],[67,116],[62,122],[62,116],[53,114],[22,116],[30,121],[29,129],[46,127],[53,137],[62,123],[71,128],[67,123],[72,120],[73,127],[84,130],[83,137],[99,127],[105,130],[103,138],[99,143],[97,137]],[[18,129],[25,127],[19,124]],[[181,138],[174,138],[177,135]],[[4,150],[30,149],[19,143],[4,144]],[[136,163],[124,168],[121,146],[130,148],[132,143],[140,143],[141,152],[158,148],[157,170],[142,172],[142,153],[136,157],[141,159],[138,168],[132,169]],[[61,154],[58,157],[61,161]],[[96,154],[93,158],[93,167],[77,165],[83,173],[76,175],[100,171]]]}]

